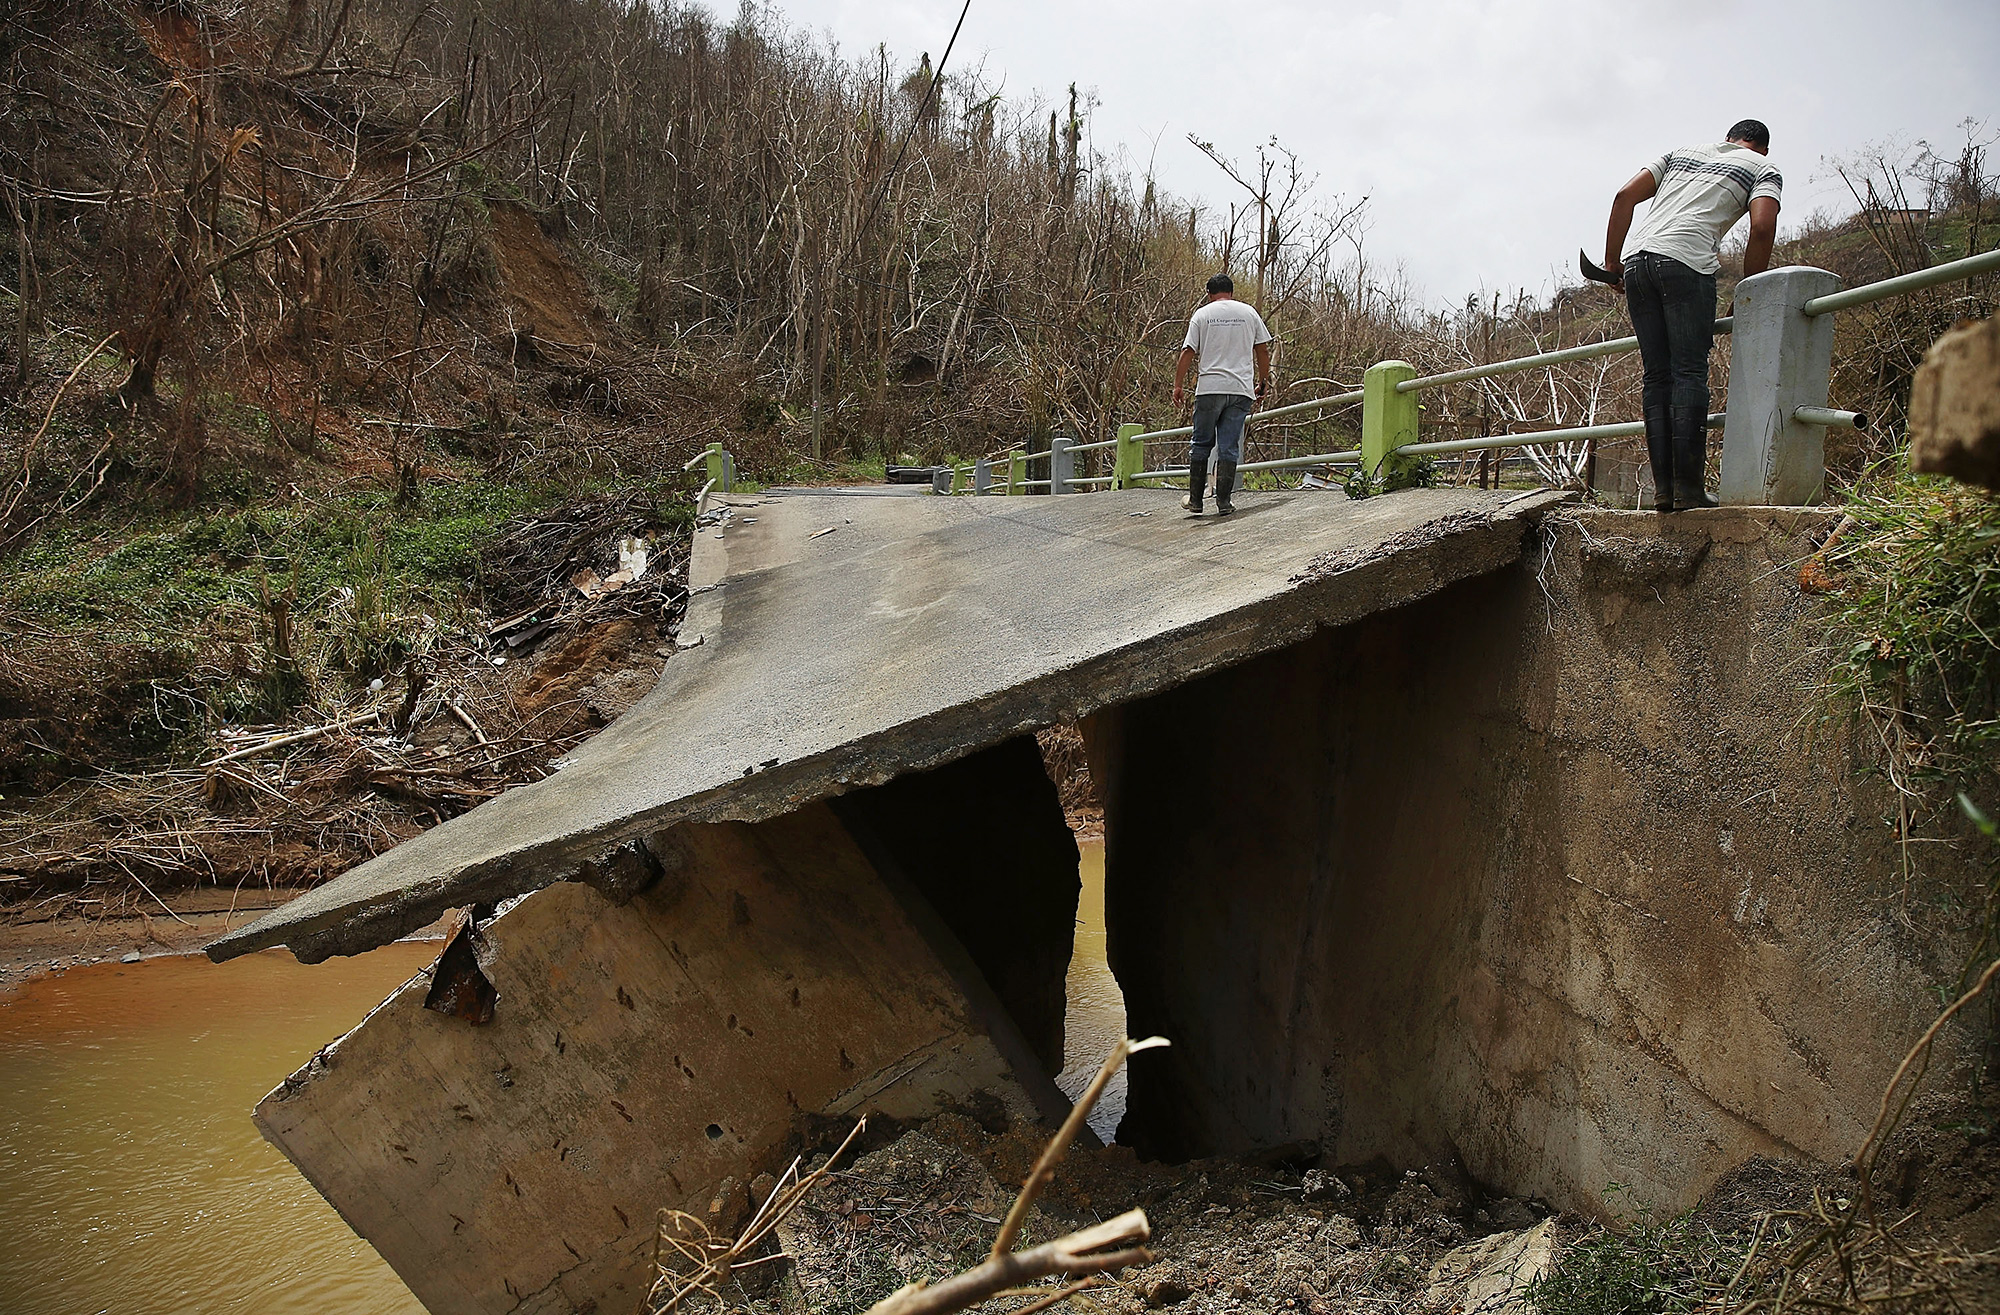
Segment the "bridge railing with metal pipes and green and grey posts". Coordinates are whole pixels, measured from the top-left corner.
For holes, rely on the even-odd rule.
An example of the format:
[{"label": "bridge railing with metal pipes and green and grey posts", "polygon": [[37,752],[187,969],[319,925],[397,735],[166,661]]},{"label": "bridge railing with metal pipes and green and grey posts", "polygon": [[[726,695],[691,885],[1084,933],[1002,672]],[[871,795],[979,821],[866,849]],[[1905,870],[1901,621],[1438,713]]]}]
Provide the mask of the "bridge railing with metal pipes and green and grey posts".
[{"label": "bridge railing with metal pipes and green and grey posts", "polygon": [[[1824,460],[1820,456],[1820,436],[1832,428],[1866,428],[1868,416],[1826,406],[1826,378],[1832,362],[1832,336],[1814,334],[1812,322],[1820,316],[1866,306],[1906,292],[1934,288],[1938,284],[1974,278],[1978,274],[2000,272],[2000,248],[1966,256],[1914,274],[1884,278],[1860,288],[1840,290],[1840,280],[1826,270],[1806,266],[1786,266],[1766,270],[1742,280],[1736,288],[1736,314],[1714,322],[1716,334],[1730,334],[1730,378],[1736,380],[1728,412],[1708,418],[1708,428],[1722,428],[1722,500],[1734,504],[1778,504],[1796,506],[1818,498],[1824,484]],[[1596,442],[1606,438],[1628,438],[1644,434],[1644,422],[1574,426],[1566,430],[1534,430],[1528,434],[1492,434],[1482,438],[1454,438],[1442,442],[1418,442],[1420,414],[1418,394],[1430,388],[1452,384],[1472,384],[1524,370],[1542,370],[1566,362],[1594,360],[1636,352],[1638,338],[1608,338],[1586,342],[1556,352],[1536,352],[1504,362],[1468,366],[1420,376],[1404,362],[1378,362],[1368,368],[1368,378],[1360,390],[1290,402],[1252,416],[1252,424],[1268,424],[1288,416],[1308,412],[1324,414],[1332,408],[1362,404],[1362,446],[1346,452],[1318,452],[1296,458],[1268,462],[1242,462],[1238,472],[1260,470],[1302,470],[1310,466],[1364,466],[1380,468],[1390,460],[1452,456],[1464,452],[1496,452],[1502,448],[1530,448],[1540,444]],[[1804,356],[1800,356],[1804,354]],[[1010,450],[982,456],[976,462],[942,468],[950,472],[952,494],[1026,494],[1028,490],[1050,490],[1068,494],[1086,488],[1110,486],[1134,488],[1156,480],[1186,478],[1186,466],[1146,470],[1146,444],[1162,444],[1188,438],[1194,426],[1170,430],[1144,430],[1136,424],[1124,426],[1116,438],[1088,444],[1058,438],[1044,452]],[[1082,452],[1116,454],[1114,470],[1108,476],[1076,476],[1072,460]],[[710,444],[696,454],[682,470],[708,464],[710,490],[730,492],[736,480],[736,462],[720,444]],[[1028,462],[1050,462],[1046,480],[1028,480]],[[1780,474],[1772,474],[1780,472]],[[942,480],[942,476],[940,476]],[[1778,484],[1782,480],[1784,484]],[[966,488],[970,482],[972,488]]]}]

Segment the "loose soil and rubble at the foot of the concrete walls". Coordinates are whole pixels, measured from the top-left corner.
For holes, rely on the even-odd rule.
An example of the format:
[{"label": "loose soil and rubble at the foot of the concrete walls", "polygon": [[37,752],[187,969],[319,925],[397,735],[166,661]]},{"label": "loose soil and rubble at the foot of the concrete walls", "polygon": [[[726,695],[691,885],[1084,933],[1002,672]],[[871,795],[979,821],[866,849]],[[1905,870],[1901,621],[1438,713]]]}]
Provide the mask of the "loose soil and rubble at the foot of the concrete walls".
[{"label": "loose soil and rubble at the foot of the concrete walls", "polygon": [[[1904,1221],[1902,1249],[1932,1257],[1934,1273],[1952,1283],[1964,1311],[1996,1309],[2000,1295],[1992,1251],[2000,1245],[2000,1143],[1992,1113],[1964,1099],[1932,1099],[1884,1157],[1884,1165],[1896,1165],[1886,1179],[1908,1179],[1886,1189],[1894,1205],[1884,1201],[1884,1211],[1894,1211],[1888,1221]],[[812,1147],[802,1151],[806,1171],[826,1163],[840,1131],[802,1135],[802,1145]],[[790,1259],[740,1271],[742,1279],[716,1301],[700,1297],[694,1307],[860,1315],[906,1283],[970,1269],[986,1257],[1042,1141],[1040,1129],[992,1133],[964,1113],[916,1127],[872,1119],[860,1153],[780,1225],[778,1241]],[[734,1235],[772,1187],[768,1175],[748,1187],[726,1183],[706,1227]],[[1620,1247],[1628,1261],[1668,1277],[1720,1265],[1726,1281],[1756,1231],[1774,1227],[1766,1221],[1796,1227],[1796,1213],[1814,1211],[1816,1201],[1832,1209],[1852,1189],[1852,1177],[1828,1165],[1752,1159],[1676,1221],[1668,1233],[1678,1241],[1660,1247],[1642,1241],[1648,1229],[1662,1235],[1658,1223],[1642,1219],[1626,1239],[1594,1219],[1492,1193],[1452,1165],[1320,1169],[1308,1145],[1162,1165],[1142,1163],[1128,1147],[1076,1147],[1030,1213],[1020,1245],[1126,1209],[1146,1211],[1158,1259],[1072,1297],[1072,1307],[1086,1313],[1520,1315],[1532,1309],[1530,1283],[1588,1247]]]}]

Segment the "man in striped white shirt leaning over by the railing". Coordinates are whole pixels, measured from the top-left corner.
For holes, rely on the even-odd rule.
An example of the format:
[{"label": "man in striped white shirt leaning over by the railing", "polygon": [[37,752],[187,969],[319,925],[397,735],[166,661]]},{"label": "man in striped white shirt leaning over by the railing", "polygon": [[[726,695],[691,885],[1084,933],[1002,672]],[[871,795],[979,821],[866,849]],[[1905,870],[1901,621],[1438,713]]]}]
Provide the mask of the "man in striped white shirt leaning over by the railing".
[{"label": "man in striped white shirt leaning over by the railing", "polygon": [[[1746,118],[1726,142],[1670,150],[1612,200],[1604,268],[1622,282],[1646,366],[1646,454],[1660,512],[1712,508],[1708,496],[1708,350],[1716,332],[1722,236],[1750,216],[1744,278],[1770,266],[1784,176],[1766,160],[1770,130]],[[1650,200],[1632,228],[1632,212]],[[1630,230],[1630,238],[1626,232]]]}]

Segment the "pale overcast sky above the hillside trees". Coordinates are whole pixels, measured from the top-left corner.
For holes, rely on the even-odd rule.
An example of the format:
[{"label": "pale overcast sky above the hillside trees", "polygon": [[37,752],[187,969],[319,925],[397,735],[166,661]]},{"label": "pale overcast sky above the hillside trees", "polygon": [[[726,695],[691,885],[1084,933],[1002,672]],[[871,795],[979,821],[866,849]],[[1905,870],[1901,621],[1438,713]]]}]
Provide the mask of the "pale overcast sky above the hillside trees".
[{"label": "pale overcast sky above the hillside trees", "polygon": [[[886,42],[914,62],[960,0],[772,8],[850,58]],[[1994,0],[972,0],[946,72],[980,62],[1014,100],[1094,92],[1100,152],[1210,204],[1234,184],[1188,132],[1236,158],[1276,134],[1328,200],[1370,198],[1370,260],[1430,302],[1574,274],[1626,178],[1738,118],[1770,124],[1786,226],[1852,208],[1830,158],[1884,138],[1956,154],[1968,116],[2000,132]]]}]

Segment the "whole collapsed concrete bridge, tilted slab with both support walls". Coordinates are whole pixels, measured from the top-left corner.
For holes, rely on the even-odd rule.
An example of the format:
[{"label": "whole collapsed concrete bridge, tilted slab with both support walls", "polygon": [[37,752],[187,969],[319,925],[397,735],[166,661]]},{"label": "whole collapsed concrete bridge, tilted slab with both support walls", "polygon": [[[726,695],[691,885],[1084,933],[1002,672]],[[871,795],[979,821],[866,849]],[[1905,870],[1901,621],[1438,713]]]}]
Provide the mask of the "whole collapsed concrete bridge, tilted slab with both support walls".
[{"label": "whole collapsed concrete bridge, tilted slab with both support walls", "polygon": [[564,769],[210,947],[358,953],[454,907],[488,1025],[424,977],[258,1111],[432,1311],[636,1301],[802,1115],[1054,1117],[1076,847],[1106,795],[1120,1129],[1456,1159],[1588,1209],[1836,1159],[1928,1019],[1856,899],[1880,803],[1784,747],[1776,568],[1820,512],[1552,494],[734,498],[660,685]]}]

